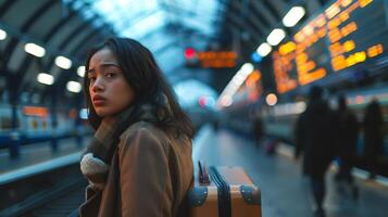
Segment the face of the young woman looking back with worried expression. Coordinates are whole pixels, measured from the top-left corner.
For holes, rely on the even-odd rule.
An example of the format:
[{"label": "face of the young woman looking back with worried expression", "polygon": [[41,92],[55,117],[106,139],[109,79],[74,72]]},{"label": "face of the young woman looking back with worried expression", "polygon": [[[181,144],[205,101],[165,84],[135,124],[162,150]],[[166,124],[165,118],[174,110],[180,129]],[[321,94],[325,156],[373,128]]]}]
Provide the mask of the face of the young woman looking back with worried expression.
[{"label": "face of the young woman looking back with worried expression", "polygon": [[126,81],[116,58],[108,48],[91,56],[87,76],[90,100],[100,117],[115,115],[133,102],[134,91]]}]

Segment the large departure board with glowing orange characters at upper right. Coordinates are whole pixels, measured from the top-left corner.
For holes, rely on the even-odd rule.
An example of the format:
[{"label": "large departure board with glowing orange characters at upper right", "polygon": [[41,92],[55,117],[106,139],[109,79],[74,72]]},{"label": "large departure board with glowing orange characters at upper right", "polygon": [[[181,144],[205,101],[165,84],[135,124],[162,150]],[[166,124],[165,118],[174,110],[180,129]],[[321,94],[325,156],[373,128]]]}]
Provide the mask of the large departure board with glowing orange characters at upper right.
[{"label": "large departure board with glowing orange characters at upper right", "polygon": [[278,92],[385,55],[386,4],[386,0],[337,0],[310,20],[273,52]]}]

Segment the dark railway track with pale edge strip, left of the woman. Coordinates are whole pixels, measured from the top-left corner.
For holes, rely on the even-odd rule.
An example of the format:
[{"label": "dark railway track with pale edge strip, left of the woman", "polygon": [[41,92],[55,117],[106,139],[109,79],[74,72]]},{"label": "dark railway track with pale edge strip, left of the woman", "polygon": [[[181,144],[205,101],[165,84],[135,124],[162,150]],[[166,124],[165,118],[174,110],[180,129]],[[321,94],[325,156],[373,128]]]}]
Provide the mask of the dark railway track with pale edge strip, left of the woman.
[{"label": "dark railway track with pale edge strip, left of the woman", "polygon": [[62,217],[85,199],[79,154],[0,176],[0,217]]}]

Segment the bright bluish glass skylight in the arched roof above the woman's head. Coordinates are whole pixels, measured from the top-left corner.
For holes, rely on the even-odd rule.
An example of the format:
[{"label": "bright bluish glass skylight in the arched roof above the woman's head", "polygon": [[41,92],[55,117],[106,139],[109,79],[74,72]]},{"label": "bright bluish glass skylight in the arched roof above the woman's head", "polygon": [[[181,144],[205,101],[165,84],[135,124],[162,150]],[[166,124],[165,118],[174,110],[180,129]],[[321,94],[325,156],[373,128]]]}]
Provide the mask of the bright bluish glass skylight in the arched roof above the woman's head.
[{"label": "bright bluish glass skylight in the arched roof above the woman's head", "polygon": [[167,75],[184,66],[185,48],[203,49],[215,37],[225,10],[217,0],[63,1],[96,27],[105,23],[116,35],[139,40]]}]

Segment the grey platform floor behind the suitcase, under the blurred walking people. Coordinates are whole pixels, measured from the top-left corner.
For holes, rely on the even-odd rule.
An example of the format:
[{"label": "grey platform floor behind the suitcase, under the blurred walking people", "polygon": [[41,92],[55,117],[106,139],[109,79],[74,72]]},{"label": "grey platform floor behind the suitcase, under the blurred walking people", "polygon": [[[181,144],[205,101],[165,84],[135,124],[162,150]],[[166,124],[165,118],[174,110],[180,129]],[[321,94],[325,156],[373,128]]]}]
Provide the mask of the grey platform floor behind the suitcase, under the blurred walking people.
[{"label": "grey platform floor behind the suitcase, under the blurred walking people", "polygon": [[[264,217],[311,217],[313,197],[310,182],[302,176],[301,162],[287,154],[266,154],[263,146],[229,130],[214,131],[204,126],[195,139],[193,161],[208,165],[242,166],[262,191]],[[388,187],[356,178],[360,196],[355,201],[347,191],[339,191],[333,171],[327,175],[324,203],[327,217],[387,216]]]}]

